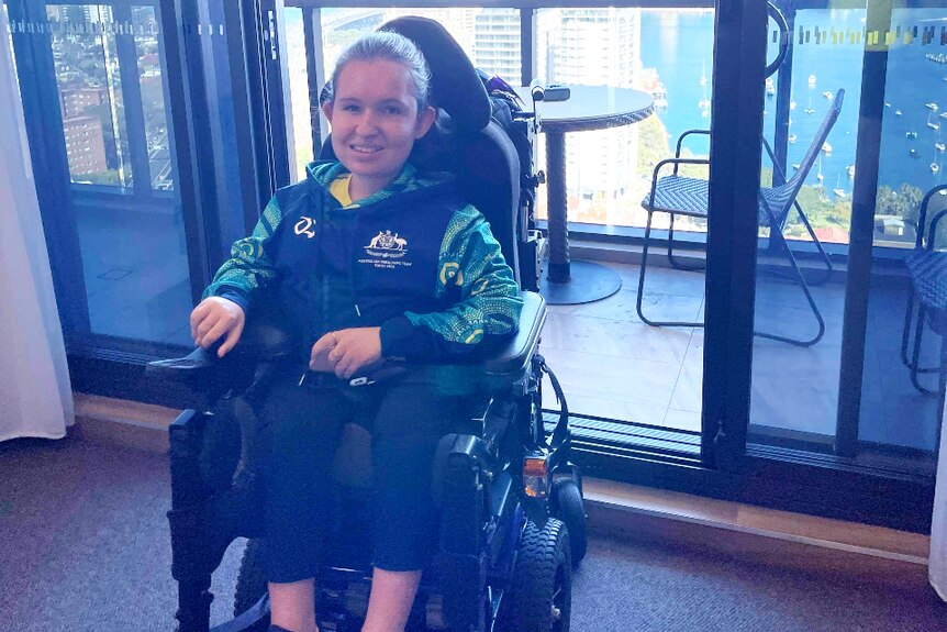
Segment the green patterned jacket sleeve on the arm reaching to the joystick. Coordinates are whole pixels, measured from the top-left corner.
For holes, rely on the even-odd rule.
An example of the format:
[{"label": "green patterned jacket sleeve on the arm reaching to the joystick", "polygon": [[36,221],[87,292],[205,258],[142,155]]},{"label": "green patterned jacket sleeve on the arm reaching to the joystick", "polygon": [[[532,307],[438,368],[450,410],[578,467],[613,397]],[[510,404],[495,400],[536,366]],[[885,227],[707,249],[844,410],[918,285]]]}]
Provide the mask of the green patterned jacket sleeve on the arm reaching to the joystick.
[{"label": "green patterned jacket sleeve on the arm reaching to the joystick", "polygon": [[202,298],[223,297],[248,310],[254,296],[276,279],[268,250],[281,217],[279,202],[272,198],[250,236],[234,243],[231,258],[220,267]]}]

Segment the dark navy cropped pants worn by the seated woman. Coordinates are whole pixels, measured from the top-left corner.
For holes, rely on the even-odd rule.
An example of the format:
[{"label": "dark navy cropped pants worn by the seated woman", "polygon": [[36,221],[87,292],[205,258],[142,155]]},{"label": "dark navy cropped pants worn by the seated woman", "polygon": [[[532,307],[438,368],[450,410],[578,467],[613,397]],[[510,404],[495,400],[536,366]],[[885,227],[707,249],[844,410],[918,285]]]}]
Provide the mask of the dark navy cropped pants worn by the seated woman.
[{"label": "dark navy cropped pants worn by the seated woman", "polygon": [[437,517],[431,468],[441,436],[473,389],[458,367],[416,367],[390,381],[350,387],[334,378],[300,386],[287,370],[263,407],[272,436],[266,474],[266,553],[269,579],[289,583],[316,575],[325,562],[331,464],[343,426],[371,433],[375,566],[420,570],[434,553]]}]

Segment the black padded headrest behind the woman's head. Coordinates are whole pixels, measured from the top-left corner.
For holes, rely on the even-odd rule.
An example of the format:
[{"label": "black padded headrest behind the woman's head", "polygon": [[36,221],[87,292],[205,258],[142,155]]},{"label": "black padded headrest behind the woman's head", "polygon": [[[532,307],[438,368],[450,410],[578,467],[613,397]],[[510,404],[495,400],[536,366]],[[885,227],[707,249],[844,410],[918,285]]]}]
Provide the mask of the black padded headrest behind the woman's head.
[{"label": "black padded headrest behind the woman's head", "polygon": [[404,35],[431,67],[431,102],[450,117],[461,131],[479,131],[490,121],[490,98],[460,44],[438,22],[405,15],[382,24],[379,31]]}]

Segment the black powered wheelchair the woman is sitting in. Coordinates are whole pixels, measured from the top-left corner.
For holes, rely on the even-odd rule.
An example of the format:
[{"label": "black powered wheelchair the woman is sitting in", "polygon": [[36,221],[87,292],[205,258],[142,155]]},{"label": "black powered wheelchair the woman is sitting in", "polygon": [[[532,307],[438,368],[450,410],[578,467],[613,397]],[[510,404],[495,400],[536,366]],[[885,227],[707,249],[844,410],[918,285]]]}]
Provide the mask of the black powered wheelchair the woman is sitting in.
[{"label": "black powered wheelchair the woman is sitting in", "polygon": [[[586,514],[581,475],[570,462],[568,408],[538,354],[546,309],[531,290],[537,286],[542,235],[533,229],[532,196],[521,195],[521,187],[535,188],[533,174],[521,174],[532,171],[532,164],[521,168],[509,135],[491,118],[481,77],[443,26],[399,18],[382,29],[413,40],[432,67],[438,131],[419,142],[412,162],[439,170],[446,165],[457,175],[524,288],[519,332],[475,367],[476,395],[465,396],[467,412],[438,443],[433,473],[441,514],[437,553],[423,573],[405,630],[567,632],[571,572],[586,554]],[[528,120],[530,114],[520,118]],[[198,348],[147,367],[152,378],[183,384],[194,396],[194,408],[169,430],[168,518],[179,632],[209,630],[211,574],[239,536],[249,541],[235,618],[212,630],[265,631],[269,624],[258,475],[266,441],[256,404],[268,375],[297,350],[279,326],[278,313],[255,312],[239,344],[224,358]],[[548,424],[542,412],[544,374],[561,403]],[[366,433],[344,433],[344,444],[356,444],[346,453],[367,454],[357,444],[368,440]],[[316,617],[325,631],[360,630],[368,601],[370,539],[359,525],[369,522],[364,515],[369,511],[370,463],[342,472],[350,461],[337,458],[334,480],[326,481],[335,490],[326,529],[331,553],[316,577]]]}]

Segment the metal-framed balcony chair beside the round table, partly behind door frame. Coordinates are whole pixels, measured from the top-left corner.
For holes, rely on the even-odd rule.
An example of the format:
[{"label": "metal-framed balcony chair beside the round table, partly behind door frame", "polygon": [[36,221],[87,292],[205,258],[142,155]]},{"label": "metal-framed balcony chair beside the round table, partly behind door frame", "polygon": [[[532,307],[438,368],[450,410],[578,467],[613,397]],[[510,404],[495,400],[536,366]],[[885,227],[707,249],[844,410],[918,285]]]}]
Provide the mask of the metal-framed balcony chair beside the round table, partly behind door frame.
[{"label": "metal-framed balcony chair beside the round table, partly behind door frame", "polygon": [[[842,110],[842,102],[844,98],[845,90],[838,90],[838,93],[835,96],[832,106],[829,106],[828,111],[825,113],[825,118],[823,119],[818,131],[812,140],[812,144],[806,149],[805,156],[799,165],[799,169],[795,171],[795,174],[793,174],[791,178],[786,178],[786,170],[783,169],[782,165],[779,164],[779,160],[776,158],[772,147],[770,147],[769,143],[766,141],[766,138],[764,138],[764,146],[769,154],[770,160],[772,160],[773,170],[775,173],[778,171],[780,175],[782,175],[783,184],[777,187],[760,189],[758,207],[759,225],[767,226],[770,229],[770,239],[776,240],[778,242],[777,245],[779,246],[779,250],[786,253],[790,266],[792,267],[791,278],[798,281],[799,285],[802,287],[802,291],[805,293],[805,299],[809,302],[809,307],[818,323],[818,333],[809,340],[798,340],[766,332],[754,332],[755,335],[780,342],[787,342],[798,346],[811,346],[822,340],[822,336],[825,334],[825,321],[822,319],[822,314],[820,313],[818,308],[816,307],[815,301],[812,298],[812,292],[809,289],[809,282],[806,282],[805,276],[802,274],[802,270],[800,269],[799,264],[795,260],[795,256],[792,254],[792,250],[789,247],[789,244],[783,236],[783,231],[786,230],[786,224],[789,220],[790,211],[795,208],[796,213],[799,213],[799,218],[802,220],[803,225],[805,225],[805,230],[809,231],[809,234],[812,237],[812,242],[815,244],[815,247],[818,250],[818,254],[825,263],[825,280],[827,280],[832,275],[832,262],[829,260],[825,248],[822,247],[822,243],[820,243],[818,239],[815,236],[815,232],[812,230],[812,225],[809,223],[809,219],[805,217],[802,207],[799,206],[796,197],[799,196],[800,189],[802,189],[802,185],[805,181],[805,178],[809,176],[810,170],[815,164],[815,160],[818,157],[818,153],[820,151],[822,151],[822,146],[825,143],[825,140],[828,137],[828,133],[832,131],[833,125],[835,125],[835,121],[838,120],[838,113]],[[642,247],[642,268],[640,277],[638,280],[637,302],[635,307],[638,312],[638,318],[640,318],[643,322],[651,326],[704,325],[704,323],[702,322],[657,321],[645,317],[642,311],[642,300],[644,298],[645,290],[645,274],[647,270],[648,263],[648,247],[650,246],[651,236],[651,218],[654,213],[661,212],[668,213],[670,215],[670,225],[668,230],[668,260],[670,262],[671,266],[682,270],[703,269],[703,266],[691,266],[682,264],[673,256],[675,215],[706,219],[709,214],[708,180],[702,178],[689,178],[686,176],[678,175],[678,169],[680,165],[710,165],[710,160],[706,158],[681,158],[681,145],[684,137],[690,134],[710,135],[710,132],[706,130],[688,130],[687,132],[681,134],[681,136],[678,138],[675,157],[664,159],[655,166],[654,176],[651,179],[651,190],[647,196],[645,196],[645,199],[642,200],[642,207],[644,207],[644,209],[648,212],[648,220],[645,226],[645,239]],[[665,165],[673,165],[673,173],[670,176],[659,177],[660,170]]]}]

